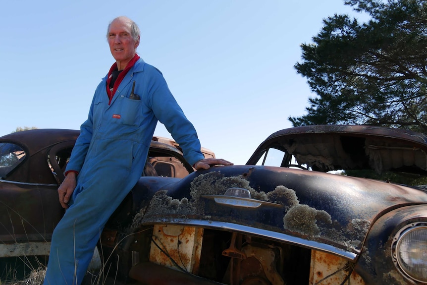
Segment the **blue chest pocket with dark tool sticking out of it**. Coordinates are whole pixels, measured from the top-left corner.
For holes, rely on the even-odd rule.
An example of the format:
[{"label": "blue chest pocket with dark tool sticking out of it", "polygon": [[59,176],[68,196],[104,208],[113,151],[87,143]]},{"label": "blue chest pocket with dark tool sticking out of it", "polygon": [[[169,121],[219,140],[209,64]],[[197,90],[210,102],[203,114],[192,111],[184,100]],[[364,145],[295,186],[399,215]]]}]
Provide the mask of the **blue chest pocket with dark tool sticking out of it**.
[{"label": "blue chest pocket with dark tool sticking out of it", "polygon": [[115,109],[119,117],[113,119],[114,123],[139,126],[141,120],[141,100],[132,100],[126,97],[117,98],[115,102],[118,107]]}]

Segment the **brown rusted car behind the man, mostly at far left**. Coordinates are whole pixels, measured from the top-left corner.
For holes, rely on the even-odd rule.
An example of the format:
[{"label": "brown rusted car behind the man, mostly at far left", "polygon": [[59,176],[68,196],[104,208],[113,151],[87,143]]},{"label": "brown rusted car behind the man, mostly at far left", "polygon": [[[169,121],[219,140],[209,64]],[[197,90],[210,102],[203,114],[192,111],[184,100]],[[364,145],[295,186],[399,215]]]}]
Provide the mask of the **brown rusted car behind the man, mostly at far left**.
[{"label": "brown rusted car behind the man, mostly at far left", "polygon": [[[57,188],[79,134],[33,129],[0,138],[0,258],[49,256],[53,228],[64,214]],[[206,148],[202,152],[214,157]],[[167,138],[153,137],[148,161],[144,176],[182,178],[194,171]]]}]

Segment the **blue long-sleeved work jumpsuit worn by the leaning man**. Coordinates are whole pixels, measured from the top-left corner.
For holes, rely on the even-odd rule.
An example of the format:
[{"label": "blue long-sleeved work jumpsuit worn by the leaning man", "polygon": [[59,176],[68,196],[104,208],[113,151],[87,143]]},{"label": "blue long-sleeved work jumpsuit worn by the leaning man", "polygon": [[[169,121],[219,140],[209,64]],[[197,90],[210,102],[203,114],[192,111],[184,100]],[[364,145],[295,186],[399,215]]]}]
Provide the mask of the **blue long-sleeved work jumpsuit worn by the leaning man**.
[{"label": "blue long-sleeved work jumpsuit worn by the leaning man", "polygon": [[[129,99],[133,81],[140,100]],[[158,120],[191,165],[204,158],[196,130],[158,69],[139,59],[110,105],[106,82],[96,89],[66,168],[79,171],[77,187],[53,232],[45,285],[81,284],[104,225],[143,172]]]}]

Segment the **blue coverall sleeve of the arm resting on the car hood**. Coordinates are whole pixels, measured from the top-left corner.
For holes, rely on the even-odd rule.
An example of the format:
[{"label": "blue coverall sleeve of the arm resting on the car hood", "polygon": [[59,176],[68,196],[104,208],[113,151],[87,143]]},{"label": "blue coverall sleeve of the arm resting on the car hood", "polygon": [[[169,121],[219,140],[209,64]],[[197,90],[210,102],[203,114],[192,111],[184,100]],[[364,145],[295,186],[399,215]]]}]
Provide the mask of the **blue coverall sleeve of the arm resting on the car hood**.
[{"label": "blue coverall sleeve of the arm resting on the car hood", "polygon": [[153,67],[147,80],[148,104],[156,118],[164,124],[173,139],[183,150],[184,158],[194,165],[204,155],[196,129],[179,107],[160,71]]}]

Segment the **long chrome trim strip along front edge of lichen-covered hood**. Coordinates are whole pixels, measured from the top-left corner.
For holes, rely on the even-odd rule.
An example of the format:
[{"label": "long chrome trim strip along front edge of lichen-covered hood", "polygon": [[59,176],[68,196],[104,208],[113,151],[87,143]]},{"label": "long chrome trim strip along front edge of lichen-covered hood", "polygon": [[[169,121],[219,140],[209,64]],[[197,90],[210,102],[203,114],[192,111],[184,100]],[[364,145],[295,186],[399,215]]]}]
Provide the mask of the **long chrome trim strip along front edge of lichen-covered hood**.
[{"label": "long chrome trim strip along front edge of lichen-covered hood", "polygon": [[[335,247],[335,246],[332,246],[329,244],[320,243],[318,241],[306,240],[306,239],[291,236],[291,235],[288,235],[285,233],[270,231],[270,230],[261,229],[261,228],[252,228],[252,227],[242,226],[242,225],[237,225],[237,224],[232,224],[232,223],[192,220],[192,219],[170,219],[170,220],[169,219],[168,220],[160,219],[159,223],[176,224],[176,225],[191,225],[191,226],[195,226],[195,227],[205,227],[205,228],[221,228],[223,230],[235,230],[235,231],[239,231],[242,233],[257,235],[260,237],[272,238],[272,239],[275,239],[278,241],[287,242],[287,243],[291,243],[291,244],[299,245],[299,246],[304,246],[307,248],[320,250],[320,251],[324,251],[327,253],[332,253],[332,254],[338,255],[340,257],[343,257],[347,260],[353,261],[353,262],[356,261],[356,258],[358,257],[358,254],[356,254],[356,253],[345,251],[341,248],[338,248],[338,247]],[[150,223],[150,224],[152,224],[152,223]]]}]

